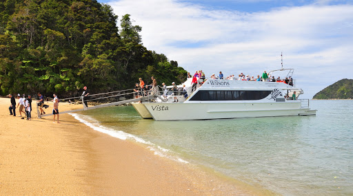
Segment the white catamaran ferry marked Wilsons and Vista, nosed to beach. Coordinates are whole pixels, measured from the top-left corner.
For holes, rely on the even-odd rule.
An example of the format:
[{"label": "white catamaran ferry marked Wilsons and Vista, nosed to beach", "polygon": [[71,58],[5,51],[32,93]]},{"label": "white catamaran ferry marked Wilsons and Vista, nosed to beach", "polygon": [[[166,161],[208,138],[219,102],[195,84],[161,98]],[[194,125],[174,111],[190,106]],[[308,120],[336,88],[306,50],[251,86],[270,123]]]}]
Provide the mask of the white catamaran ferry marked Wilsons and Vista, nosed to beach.
[{"label": "white catamaran ferry marked Wilsons and Vista, nosed to beach", "polygon": [[[269,72],[289,71],[278,69]],[[294,80],[295,81],[295,80]],[[291,83],[289,83],[291,84]],[[196,87],[188,78],[184,94],[168,91],[168,94],[155,95],[152,100],[133,103],[134,109],[142,118],[154,120],[210,120],[226,118],[307,116],[315,115],[316,110],[309,108],[308,99],[299,99],[303,90],[281,82],[262,82],[253,80],[199,79]],[[169,89],[172,86],[168,87]],[[292,94],[296,98],[292,98]],[[185,95],[187,94],[187,95]],[[174,102],[174,97],[178,102]]]}]

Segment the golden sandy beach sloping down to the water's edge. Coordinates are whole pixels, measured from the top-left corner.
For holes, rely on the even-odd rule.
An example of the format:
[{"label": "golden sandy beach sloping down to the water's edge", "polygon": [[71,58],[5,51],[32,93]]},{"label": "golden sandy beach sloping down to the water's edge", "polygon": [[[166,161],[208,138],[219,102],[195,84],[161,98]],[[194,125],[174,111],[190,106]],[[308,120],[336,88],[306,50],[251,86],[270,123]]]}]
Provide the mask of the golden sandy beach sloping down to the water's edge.
[{"label": "golden sandy beach sloping down to the water's edge", "polygon": [[[18,102],[18,99],[17,99]],[[10,116],[0,98],[0,195],[272,195],[94,131],[70,114]],[[46,113],[52,112],[52,104]],[[59,111],[82,105],[60,103]]]}]

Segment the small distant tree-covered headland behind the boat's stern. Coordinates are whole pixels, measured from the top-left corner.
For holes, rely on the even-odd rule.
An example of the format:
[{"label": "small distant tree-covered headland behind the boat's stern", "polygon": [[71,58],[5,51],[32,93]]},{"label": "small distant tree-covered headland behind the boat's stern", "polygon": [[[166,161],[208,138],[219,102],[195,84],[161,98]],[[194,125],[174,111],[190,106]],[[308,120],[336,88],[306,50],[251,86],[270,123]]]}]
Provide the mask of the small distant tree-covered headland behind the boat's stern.
[{"label": "small distant tree-covered headland behind the boat's stern", "polygon": [[353,99],[353,80],[339,80],[315,94],[314,99]]}]

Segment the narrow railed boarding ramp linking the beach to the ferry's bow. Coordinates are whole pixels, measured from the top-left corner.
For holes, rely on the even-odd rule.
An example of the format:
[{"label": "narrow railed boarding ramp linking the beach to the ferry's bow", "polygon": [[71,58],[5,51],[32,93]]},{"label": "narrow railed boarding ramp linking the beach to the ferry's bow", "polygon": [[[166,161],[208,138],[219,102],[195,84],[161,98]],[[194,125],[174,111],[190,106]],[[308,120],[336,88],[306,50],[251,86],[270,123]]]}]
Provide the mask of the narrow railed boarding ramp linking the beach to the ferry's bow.
[{"label": "narrow railed boarding ramp linking the beach to the ferry's bow", "polygon": [[[103,94],[92,94],[85,97],[78,96],[78,97],[72,97],[72,98],[59,99],[59,102],[70,102],[70,104],[72,103],[73,105],[82,104],[83,106],[81,109],[60,111],[59,114],[74,113],[77,111],[85,111],[85,110],[97,109],[102,107],[111,107],[115,105],[123,105],[130,102],[149,101],[150,99],[156,98],[156,96],[157,95],[155,94],[151,94],[150,91],[136,91],[134,89],[126,89],[121,91],[111,91]],[[126,99],[125,97],[132,97],[132,98]],[[112,99],[112,98],[118,101],[109,102],[109,99]],[[99,102],[99,100],[103,102],[106,101],[107,103],[102,103],[100,105],[94,105],[90,107],[85,106],[85,102]],[[48,105],[48,107],[53,107],[53,103],[51,105]],[[38,118],[42,118],[45,116],[52,116],[52,113],[49,113],[49,112],[41,115],[38,105],[37,105],[37,113],[38,113]]]}]

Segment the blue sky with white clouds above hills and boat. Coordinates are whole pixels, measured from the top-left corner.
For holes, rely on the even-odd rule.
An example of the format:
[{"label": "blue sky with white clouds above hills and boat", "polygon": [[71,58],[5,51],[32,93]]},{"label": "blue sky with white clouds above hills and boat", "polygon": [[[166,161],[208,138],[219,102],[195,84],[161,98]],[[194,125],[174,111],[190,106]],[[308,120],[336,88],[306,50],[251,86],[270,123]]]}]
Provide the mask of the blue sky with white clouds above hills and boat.
[{"label": "blue sky with white clouds above hills and boat", "polygon": [[256,76],[281,68],[283,52],[303,98],[353,78],[353,0],[99,2],[110,4],[119,19],[130,14],[148,50],[191,73]]}]

